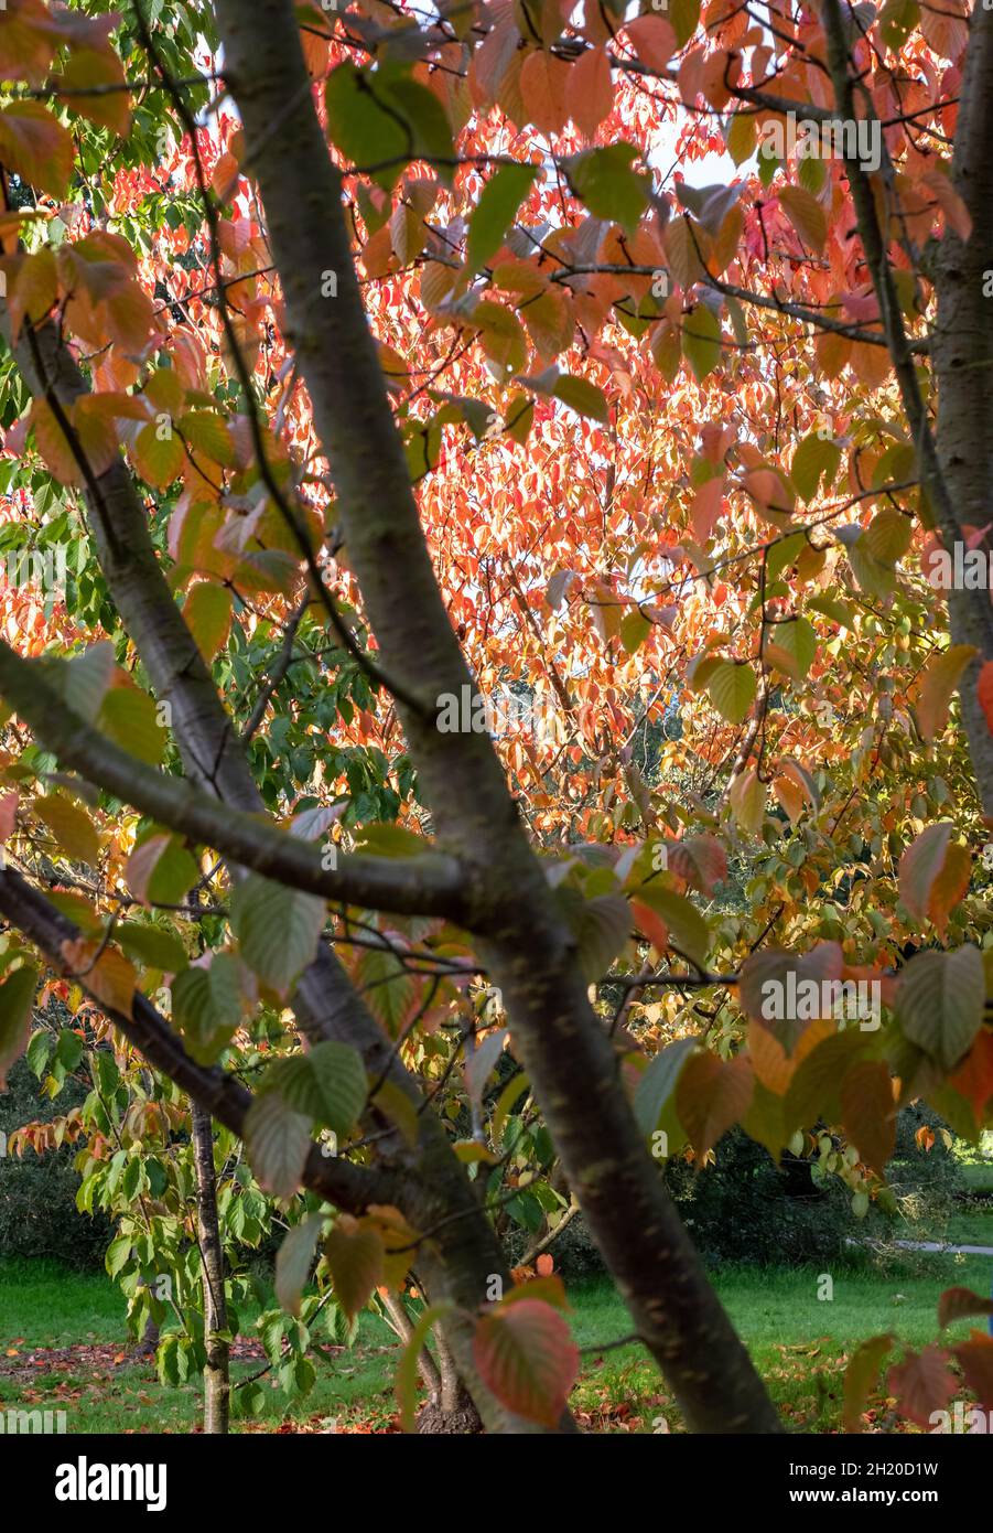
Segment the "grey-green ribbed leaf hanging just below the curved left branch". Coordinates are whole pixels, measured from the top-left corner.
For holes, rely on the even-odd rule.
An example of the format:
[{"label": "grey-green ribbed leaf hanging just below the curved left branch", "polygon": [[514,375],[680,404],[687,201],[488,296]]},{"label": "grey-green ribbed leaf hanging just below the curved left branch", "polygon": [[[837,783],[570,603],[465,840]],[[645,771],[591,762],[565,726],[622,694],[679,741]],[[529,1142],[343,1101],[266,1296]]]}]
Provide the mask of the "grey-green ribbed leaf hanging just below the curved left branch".
[{"label": "grey-green ribbed leaf hanging just below the curved left branch", "polygon": [[242,958],[265,984],[288,995],[314,961],[325,923],[325,903],[314,894],[287,889],[250,874],[234,889],[231,929]]}]

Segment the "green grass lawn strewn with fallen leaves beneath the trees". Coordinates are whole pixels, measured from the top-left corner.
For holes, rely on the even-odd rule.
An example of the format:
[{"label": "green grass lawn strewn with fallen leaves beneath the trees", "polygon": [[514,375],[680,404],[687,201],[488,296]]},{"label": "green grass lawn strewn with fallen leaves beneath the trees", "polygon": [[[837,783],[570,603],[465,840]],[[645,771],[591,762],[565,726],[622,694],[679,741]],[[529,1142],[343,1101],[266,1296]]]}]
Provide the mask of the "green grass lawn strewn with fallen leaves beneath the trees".
[{"label": "green grass lawn strewn with fallen leaves beneath the trees", "polygon": [[[988,1292],[993,1263],[984,1257],[909,1256],[884,1271],[872,1266],[835,1271],[832,1298],[815,1268],[725,1268],[714,1282],[788,1424],[801,1432],[840,1430],[841,1375],[846,1357],[867,1337],[892,1332],[923,1346],[936,1337],[938,1295],[952,1285]],[[595,1432],[651,1432],[664,1418],[682,1430],[659,1374],[636,1344],[601,1351],[631,1331],[613,1286],[588,1279],[569,1283],[573,1335],[582,1371],[572,1406]],[[124,1302],[97,1275],[69,1274],[41,1265],[0,1262],[0,1366],[9,1369],[38,1346],[103,1346],[95,1358],[80,1354],[72,1367],[38,1369],[31,1381],[0,1372],[0,1407],[64,1409],[74,1432],[190,1432],[199,1421],[199,1387],[164,1389],[144,1363],[113,1363],[124,1348]],[[248,1332],[248,1325],[244,1326]],[[967,1334],[968,1321],[958,1325]],[[106,1348],[120,1346],[107,1354]],[[15,1352],[14,1358],[8,1352]],[[276,1430],[294,1421],[308,1430],[385,1427],[394,1415],[392,1377],[398,1348],[375,1317],[363,1320],[349,1349],[319,1354],[317,1384],[293,1406],[273,1389],[271,1407],[256,1424]],[[257,1372],[257,1361],[238,1361],[233,1377]],[[264,1381],[265,1383],[265,1381]],[[267,1389],[267,1395],[268,1395]],[[886,1397],[873,1398],[875,1424],[896,1427]],[[241,1424],[236,1430],[244,1430]]]}]

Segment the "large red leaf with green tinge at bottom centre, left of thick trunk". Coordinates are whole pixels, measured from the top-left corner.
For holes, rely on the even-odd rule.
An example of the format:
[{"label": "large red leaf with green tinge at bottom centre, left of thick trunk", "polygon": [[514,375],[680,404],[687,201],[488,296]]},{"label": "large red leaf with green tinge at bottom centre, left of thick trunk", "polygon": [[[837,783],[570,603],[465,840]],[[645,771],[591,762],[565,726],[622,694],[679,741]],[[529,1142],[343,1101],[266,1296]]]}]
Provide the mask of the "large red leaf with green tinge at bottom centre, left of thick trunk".
[{"label": "large red leaf with green tinge at bottom centre, left of thick trunk", "polygon": [[509,1410],[555,1430],[579,1372],[562,1315],[538,1298],[519,1298],[481,1317],[474,1354],[483,1381]]}]

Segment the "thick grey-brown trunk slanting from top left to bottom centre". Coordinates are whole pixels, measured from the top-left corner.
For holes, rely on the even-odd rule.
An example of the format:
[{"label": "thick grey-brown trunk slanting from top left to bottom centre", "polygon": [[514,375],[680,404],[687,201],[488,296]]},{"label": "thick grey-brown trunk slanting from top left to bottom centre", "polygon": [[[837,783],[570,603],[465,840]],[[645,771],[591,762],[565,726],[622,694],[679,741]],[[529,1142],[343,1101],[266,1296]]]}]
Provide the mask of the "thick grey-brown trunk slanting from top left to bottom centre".
[{"label": "thick grey-brown trunk slanting from top left to bottom centre", "polygon": [[[291,0],[216,0],[225,80],[242,115],[285,297],[287,339],[329,458],[349,566],[391,676],[441,840],[480,894],[480,955],[570,1183],[691,1427],[775,1432],[778,1418],[648,1156],[575,938],[483,734],[441,734],[444,693],[470,676],[437,589],[362,304],[342,178],[322,135]],[[323,274],[337,296],[323,297]]]}]

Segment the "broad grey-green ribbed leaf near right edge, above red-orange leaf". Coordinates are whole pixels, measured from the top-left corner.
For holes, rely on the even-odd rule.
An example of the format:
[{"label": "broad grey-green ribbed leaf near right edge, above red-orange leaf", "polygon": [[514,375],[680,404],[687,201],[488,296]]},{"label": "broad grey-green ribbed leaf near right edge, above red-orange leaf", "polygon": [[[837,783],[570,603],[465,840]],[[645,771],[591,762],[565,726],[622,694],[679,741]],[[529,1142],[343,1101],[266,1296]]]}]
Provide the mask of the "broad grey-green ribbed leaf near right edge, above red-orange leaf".
[{"label": "broad grey-green ribbed leaf near right edge, above red-orange leaf", "polygon": [[985,1003],[985,973],[978,947],[916,954],[900,980],[896,1016],[904,1035],[944,1070],[968,1053]]}]

